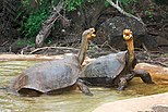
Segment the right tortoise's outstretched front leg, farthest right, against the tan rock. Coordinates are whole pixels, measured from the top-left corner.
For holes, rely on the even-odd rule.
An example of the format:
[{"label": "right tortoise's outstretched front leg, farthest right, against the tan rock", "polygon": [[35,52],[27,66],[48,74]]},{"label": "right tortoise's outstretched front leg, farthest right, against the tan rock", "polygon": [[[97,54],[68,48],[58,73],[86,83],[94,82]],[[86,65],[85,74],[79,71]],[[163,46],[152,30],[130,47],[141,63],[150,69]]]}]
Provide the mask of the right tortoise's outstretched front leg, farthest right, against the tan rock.
[{"label": "right tortoise's outstretched front leg, farthest right, against the tan rock", "polygon": [[152,80],[152,76],[149,75],[149,73],[145,70],[134,70],[132,71],[134,76],[136,77],[141,77],[141,79],[145,83],[145,84],[154,84],[154,82]]}]

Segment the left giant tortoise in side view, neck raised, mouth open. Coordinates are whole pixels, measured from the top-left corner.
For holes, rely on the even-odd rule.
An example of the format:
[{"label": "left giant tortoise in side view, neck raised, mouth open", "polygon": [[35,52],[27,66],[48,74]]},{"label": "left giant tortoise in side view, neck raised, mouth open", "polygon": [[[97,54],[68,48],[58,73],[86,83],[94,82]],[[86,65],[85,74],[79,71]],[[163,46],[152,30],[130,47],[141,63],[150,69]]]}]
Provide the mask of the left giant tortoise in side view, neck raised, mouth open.
[{"label": "left giant tortoise in side view, neck raised, mouth open", "polygon": [[85,95],[91,95],[89,89],[79,79],[81,64],[85,59],[88,40],[96,35],[89,28],[82,34],[82,43],[79,54],[64,59],[47,61],[35,64],[14,79],[12,90],[22,96],[40,96],[41,94],[58,94],[79,87]]}]

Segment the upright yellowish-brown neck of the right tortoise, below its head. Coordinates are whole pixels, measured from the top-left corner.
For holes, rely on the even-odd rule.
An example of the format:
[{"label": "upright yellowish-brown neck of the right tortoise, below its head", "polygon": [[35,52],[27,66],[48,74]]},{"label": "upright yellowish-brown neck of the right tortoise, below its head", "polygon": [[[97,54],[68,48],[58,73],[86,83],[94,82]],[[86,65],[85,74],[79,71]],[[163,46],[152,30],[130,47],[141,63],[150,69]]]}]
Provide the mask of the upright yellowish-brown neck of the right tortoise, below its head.
[{"label": "upright yellowish-brown neck of the right tortoise, below its head", "polygon": [[132,70],[132,63],[134,61],[134,45],[133,45],[133,39],[127,41],[127,46],[128,46],[128,52],[129,52],[129,69]]}]

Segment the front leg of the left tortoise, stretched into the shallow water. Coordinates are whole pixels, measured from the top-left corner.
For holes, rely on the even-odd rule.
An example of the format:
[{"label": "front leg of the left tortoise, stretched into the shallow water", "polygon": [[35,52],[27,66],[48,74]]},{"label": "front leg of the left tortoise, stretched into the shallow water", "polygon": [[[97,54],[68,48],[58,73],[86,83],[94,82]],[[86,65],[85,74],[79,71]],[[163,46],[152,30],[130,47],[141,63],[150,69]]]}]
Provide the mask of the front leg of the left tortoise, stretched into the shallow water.
[{"label": "front leg of the left tortoise, stretched into the shallow water", "polygon": [[80,90],[87,95],[87,96],[93,96],[93,94],[89,91],[88,87],[86,85],[83,84],[82,79],[77,79],[76,82],[77,87],[80,88]]}]

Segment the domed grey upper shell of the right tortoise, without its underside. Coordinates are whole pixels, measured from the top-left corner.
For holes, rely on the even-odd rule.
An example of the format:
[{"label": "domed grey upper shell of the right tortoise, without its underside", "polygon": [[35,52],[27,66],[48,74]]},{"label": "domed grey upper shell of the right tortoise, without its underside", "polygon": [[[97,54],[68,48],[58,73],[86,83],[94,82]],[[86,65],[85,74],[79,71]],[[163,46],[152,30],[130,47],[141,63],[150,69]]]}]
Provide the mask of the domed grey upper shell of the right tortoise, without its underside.
[{"label": "domed grey upper shell of the right tortoise, without its underside", "polygon": [[116,78],[125,66],[125,54],[127,51],[122,51],[99,57],[83,67],[80,77]]}]

